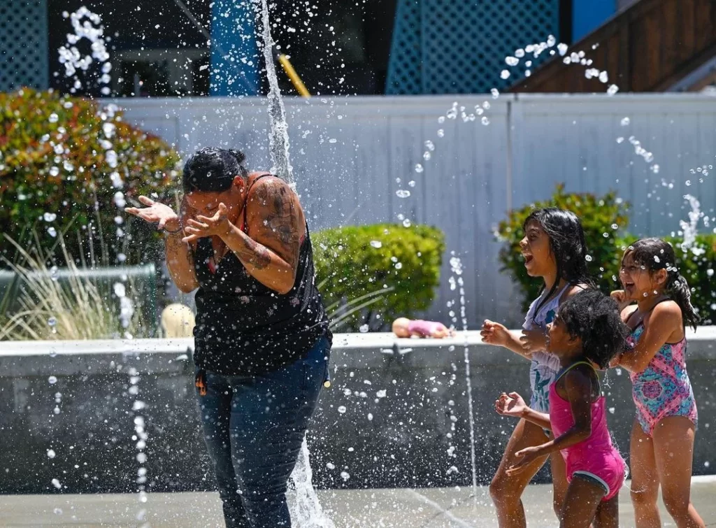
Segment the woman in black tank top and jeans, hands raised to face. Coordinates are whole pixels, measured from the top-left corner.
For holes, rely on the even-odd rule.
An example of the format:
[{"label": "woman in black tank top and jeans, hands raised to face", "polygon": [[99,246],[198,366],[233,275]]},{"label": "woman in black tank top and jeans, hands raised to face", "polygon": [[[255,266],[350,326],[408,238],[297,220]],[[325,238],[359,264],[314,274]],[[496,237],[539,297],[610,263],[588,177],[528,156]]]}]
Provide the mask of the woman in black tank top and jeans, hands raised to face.
[{"label": "woman in black tank top and jeans, hands raised to face", "polygon": [[179,214],[145,196],[127,208],[167,234],[167,267],[196,292],[196,388],[228,527],[288,527],[286,483],[319,390],[332,335],[316,289],[296,193],[248,173],[236,150],[184,166]]}]

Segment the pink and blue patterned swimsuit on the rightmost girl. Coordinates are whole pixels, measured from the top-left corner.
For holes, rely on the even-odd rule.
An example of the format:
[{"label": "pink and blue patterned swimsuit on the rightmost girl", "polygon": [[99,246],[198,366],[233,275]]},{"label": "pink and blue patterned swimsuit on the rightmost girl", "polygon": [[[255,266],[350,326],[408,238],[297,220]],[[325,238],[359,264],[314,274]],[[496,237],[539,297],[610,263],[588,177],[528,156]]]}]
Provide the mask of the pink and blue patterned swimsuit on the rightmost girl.
[{"label": "pink and blue patterned swimsuit on the rightmost girl", "polygon": [[[640,322],[629,336],[629,346],[634,347],[643,333],[644,323]],[[668,416],[686,416],[696,425],[696,400],[686,372],[686,337],[677,343],[664,343],[647,368],[632,373],[631,378],[637,420],[647,436],[652,436],[657,423]]]}]

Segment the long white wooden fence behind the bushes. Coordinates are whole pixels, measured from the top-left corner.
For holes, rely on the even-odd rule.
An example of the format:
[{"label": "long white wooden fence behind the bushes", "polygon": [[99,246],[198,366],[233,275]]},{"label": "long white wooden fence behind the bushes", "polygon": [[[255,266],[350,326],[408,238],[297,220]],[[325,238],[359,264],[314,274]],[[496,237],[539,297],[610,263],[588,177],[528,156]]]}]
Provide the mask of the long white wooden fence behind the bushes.
[{"label": "long white wooden fence behind the bushes", "polygon": [[[490,108],[483,115],[463,120],[462,107],[469,116],[485,101]],[[183,154],[220,145],[244,150],[251,168],[270,165],[263,99],[116,102],[127,120]],[[439,123],[453,102],[457,117]],[[493,231],[510,208],[548,198],[556,183],[566,183],[567,191],[618,191],[633,204],[635,234],[677,231],[690,210],[687,193],[716,216],[714,97],[314,97],[286,99],[286,112],[294,174],[314,231],[397,221],[400,214],[445,231],[443,286],[430,315],[446,322],[446,303],[457,293],[448,286],[451,251],[463,261],[470,326],[484,317],[519,322],[518,295],[498,271],[500,244]],[[622,125],[625,117],[629,124]],[[634,152],[632,136],[652,161]],[[427,140],[435,144],[430,160],[423,159]],[[417,163],[422,173],[415,171]],[[704,165],[707,176],[696,171]],[[411,195],[399,198],[398,190]]]}]

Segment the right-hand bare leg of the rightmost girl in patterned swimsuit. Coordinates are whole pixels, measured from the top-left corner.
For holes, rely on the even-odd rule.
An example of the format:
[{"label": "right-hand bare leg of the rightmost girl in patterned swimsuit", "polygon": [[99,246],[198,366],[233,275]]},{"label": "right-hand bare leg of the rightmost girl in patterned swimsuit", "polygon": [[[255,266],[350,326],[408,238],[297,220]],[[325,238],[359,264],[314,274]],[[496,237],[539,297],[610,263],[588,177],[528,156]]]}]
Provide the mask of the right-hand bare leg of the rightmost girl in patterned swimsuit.
[{"label": "right-hand bare leg of the rightmost girl in patterned swimsuit", "polygon": [[664,418],[654,427],[654,458],[667,512],[679,528],[704,528],[691,504],[695,426],[685,416]]}]

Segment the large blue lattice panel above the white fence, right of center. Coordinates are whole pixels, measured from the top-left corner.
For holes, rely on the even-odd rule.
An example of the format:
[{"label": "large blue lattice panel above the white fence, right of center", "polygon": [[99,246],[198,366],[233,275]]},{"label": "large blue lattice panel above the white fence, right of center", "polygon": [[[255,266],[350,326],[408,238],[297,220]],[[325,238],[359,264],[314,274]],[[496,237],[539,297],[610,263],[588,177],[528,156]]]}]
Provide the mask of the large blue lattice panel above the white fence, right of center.
[{"label": "large blue lattice panel above the white fence, right of center", "polygon": [[[505,57],[528,44],[558,38],[559,0],[398,0],[386,93],[487,92],[521,78],[548,57]],[[512,71],[506,80],[503,69]]]}]

